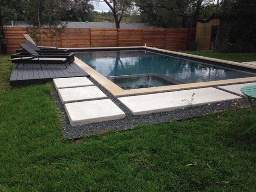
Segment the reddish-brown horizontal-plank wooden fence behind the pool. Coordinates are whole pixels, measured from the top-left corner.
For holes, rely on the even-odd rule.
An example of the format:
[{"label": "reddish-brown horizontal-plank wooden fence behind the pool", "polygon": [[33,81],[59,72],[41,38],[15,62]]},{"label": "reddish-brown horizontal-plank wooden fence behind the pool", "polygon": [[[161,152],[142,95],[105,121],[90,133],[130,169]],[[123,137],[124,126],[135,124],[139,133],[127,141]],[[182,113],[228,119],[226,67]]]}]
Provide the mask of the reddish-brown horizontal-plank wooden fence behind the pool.
[{"label": "reddish-brown horizontal-plank wooden fence behind the pool", "polygon": [[[4,27],[7,53],[12,54],[23,42],[26,28]],[[195,40],[195,28],[78,29],[66,28],[53,40],[43,35],[44,46],[58,48],[144,46],[185,50]],[[40,44],[39,42],[37,42]]]}]

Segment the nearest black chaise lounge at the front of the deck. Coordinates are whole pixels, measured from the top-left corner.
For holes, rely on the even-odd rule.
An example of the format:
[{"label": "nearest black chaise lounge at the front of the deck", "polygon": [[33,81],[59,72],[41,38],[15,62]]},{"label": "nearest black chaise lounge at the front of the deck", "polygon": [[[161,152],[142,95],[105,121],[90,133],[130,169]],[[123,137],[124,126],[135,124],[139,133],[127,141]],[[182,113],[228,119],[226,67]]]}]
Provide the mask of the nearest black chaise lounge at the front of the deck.
[{"label": "nearest black chaise lounge at the front of the deck", "polygon": [[[27,50],[31,55],[29,57],[16,57],[11,59],[11,61],[13,63],[17,63],[16,68],[18,67],[18,65],[20,63],[23,63],[23,65],[25,63],[39,63],[41,68],[42,65],[41,63],[53,63],[53,64],[65,64],[66,68],[67,68],[67,64],[70,65],[69,60],[66,58],[49,58],[49,57],[45,57],[43,53],[37,53],[34,52],[33,49],[31,49],[30,47],[28,47],[26,44],[22,43],[20,44],[20,46],[22,48],[24,48],[25,50]],[[43,57],[39,57],[39,56],[43,56]]]}]

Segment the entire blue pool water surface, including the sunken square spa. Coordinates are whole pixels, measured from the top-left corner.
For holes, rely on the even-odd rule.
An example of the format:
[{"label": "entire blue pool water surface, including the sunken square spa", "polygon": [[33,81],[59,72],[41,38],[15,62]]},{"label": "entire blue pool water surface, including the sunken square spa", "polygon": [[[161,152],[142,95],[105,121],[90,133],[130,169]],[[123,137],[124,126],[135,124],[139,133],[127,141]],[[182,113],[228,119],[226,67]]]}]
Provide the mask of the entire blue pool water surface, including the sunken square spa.
[{"label": "entire blue pool water surface, including the sunken square spa", "polygon": [[144,50],[94,51],[75,53],[75,56],[124,89],[255,76]]}]

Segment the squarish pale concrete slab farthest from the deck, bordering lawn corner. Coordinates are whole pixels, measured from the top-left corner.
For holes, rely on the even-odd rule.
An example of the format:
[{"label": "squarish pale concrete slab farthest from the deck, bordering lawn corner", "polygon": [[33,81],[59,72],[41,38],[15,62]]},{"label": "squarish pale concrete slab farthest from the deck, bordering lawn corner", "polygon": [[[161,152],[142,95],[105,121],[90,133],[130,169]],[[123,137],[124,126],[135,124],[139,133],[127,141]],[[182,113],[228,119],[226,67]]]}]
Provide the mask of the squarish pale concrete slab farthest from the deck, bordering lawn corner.
[{"label": "squarish pale concrete slab farthest from the deck, bordering lawn corner", "polygon": [[110,99],[67,103],[64,106],[72,126],[125,117],[125,113]]}]

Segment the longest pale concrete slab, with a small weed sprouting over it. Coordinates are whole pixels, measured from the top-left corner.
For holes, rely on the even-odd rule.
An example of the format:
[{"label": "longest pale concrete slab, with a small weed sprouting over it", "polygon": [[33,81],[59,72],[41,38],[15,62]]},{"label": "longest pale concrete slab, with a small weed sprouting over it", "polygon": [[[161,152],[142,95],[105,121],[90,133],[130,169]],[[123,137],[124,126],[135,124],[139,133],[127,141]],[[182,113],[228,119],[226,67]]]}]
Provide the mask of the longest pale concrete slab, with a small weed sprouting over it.
[{"label": "longest pale concrete slab, with a small weed sprouting over it", "polygon": [[[187,101],[182,101],[183,99],[191,101],[193,93],[195,93],[195,95],[192,105]],[[126,96],[118,99],[129,108],[134,115],[143,115],[239,98],[241,97],[213,87],[207,87],[142,96]]]}]

